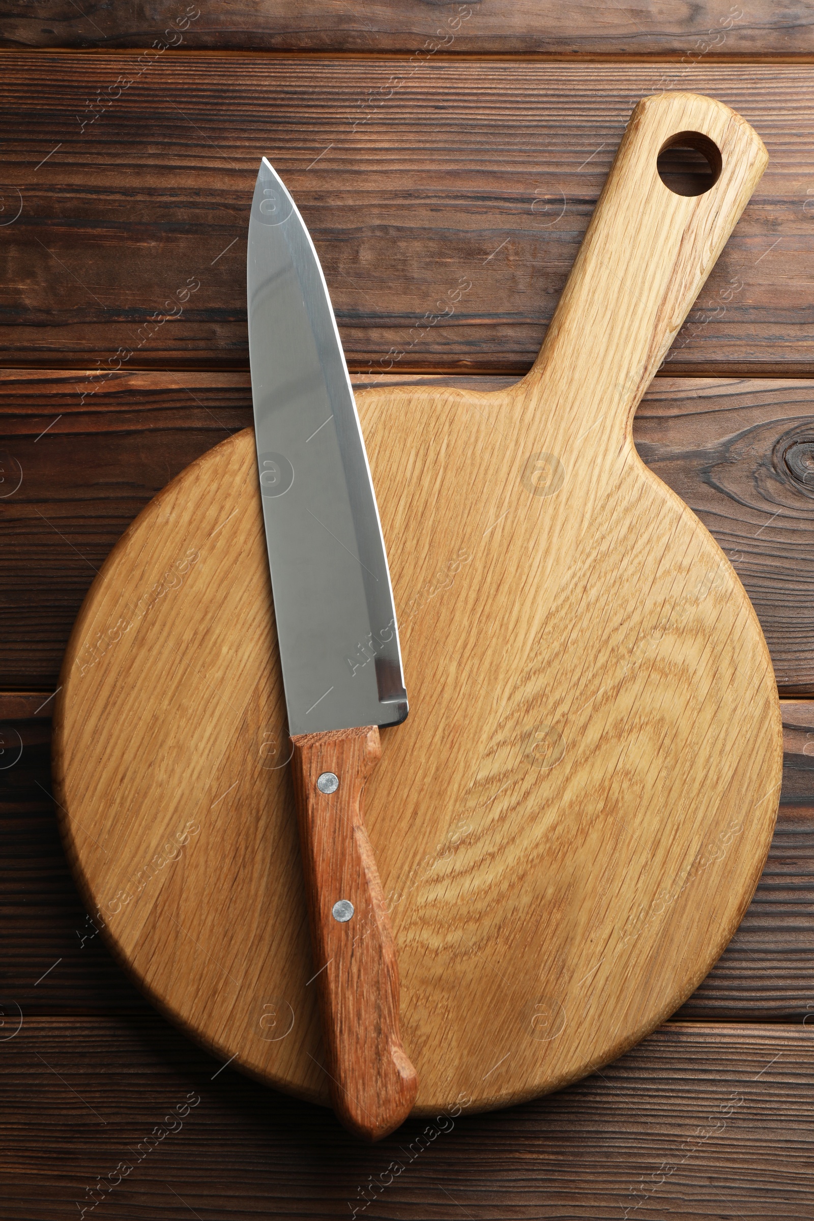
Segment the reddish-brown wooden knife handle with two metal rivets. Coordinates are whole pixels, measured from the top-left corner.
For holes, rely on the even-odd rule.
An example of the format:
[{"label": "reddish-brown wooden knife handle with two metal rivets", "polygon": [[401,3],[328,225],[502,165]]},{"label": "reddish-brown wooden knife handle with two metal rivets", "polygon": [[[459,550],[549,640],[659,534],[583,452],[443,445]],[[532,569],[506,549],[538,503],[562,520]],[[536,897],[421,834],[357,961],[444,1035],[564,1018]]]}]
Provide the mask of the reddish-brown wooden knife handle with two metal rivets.
[{"label": "reddish-brown wooden knife handle with two metal rivets", "polygon": [[292,744],[331,1100],[350,1132],[378,1140],[406,1118],[419,1084],[399,1035],[395,945],[362,817],[378,728]]}]

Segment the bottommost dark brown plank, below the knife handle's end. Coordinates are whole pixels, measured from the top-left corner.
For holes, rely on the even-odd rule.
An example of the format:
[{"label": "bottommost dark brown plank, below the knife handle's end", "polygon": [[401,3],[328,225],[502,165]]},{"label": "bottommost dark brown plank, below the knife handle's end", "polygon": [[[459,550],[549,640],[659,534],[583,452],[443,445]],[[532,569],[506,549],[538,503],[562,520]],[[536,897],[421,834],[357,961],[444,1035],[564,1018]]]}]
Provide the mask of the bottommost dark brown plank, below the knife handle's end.
[{"label": "bottommost dark brown plank, below the knife handle's end", "polygon": [[159,1017],[26,1018],[0,1044],[0,1209],[10,1221],[79,1216],[93,1200],[121,1221],[804,1221],[812,1038],[669,1023],[559,1094],[484,1115],[464,1095],[460,1111],[371,1147]]}]

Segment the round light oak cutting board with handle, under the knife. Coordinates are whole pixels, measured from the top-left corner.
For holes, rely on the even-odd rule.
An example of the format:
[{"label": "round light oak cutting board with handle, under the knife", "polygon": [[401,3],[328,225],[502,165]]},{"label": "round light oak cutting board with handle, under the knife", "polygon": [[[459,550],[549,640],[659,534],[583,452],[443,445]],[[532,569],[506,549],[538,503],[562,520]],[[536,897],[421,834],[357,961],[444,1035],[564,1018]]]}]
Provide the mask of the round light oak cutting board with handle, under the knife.
[{"label": "round light oak cutting board with handle, under the knife", "polygon": [[[714,122],[691,103],[670,122],[715,140],[732,192],[727,150],[754,133],[709,106]],[[410,698],[366,822],[421,1114],[515,1103],[619,1055],[697,987],[760,874],[782,762],[769,654],[630,433],[738,189],[724,223],[647,178],[637,225],[583,243],[516,387],[359,396]],[[658,266],[616,343],[602,317],[648,225]],[[594,255],[618,271],[604,289]],[[85,901],[151,1000],[327,1103],[289,750],[247,430],[148,505],[88,595],[55,783]]]}]

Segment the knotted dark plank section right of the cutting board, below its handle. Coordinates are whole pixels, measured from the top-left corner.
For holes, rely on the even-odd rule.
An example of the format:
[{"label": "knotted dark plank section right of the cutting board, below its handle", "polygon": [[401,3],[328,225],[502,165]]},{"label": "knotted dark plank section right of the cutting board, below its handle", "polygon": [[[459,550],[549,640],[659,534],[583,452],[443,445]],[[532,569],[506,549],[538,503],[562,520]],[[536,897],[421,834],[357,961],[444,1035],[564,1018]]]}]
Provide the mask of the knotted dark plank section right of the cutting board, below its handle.
[{"label": "knotted dark plank section right of the cutting board, below its handle", "polygon": [[635,421],[644,462],[735,565],[786,695],[814,690],[813,410],[812,382],[658,379]]}]

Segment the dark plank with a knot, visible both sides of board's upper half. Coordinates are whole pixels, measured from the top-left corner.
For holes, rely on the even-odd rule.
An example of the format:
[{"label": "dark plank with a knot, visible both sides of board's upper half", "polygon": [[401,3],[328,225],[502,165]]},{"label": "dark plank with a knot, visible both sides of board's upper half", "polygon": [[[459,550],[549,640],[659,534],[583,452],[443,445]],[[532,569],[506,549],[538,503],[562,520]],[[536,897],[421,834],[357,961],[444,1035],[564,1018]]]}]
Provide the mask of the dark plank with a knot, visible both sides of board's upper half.
[{"label": "dark plank with a knot, visible both sides of board's upper half", "polygon": [[[85,385],[74,371],[0,370],[2,486],[12,488],[0,502],[0,687],[37,686],[43,698],[116,540],[171,477],[251,422],[243,372],[115,374],[83,403]],[[814,382],[658,379],[633,436],[735,563],[781,692],[814,694]]]}]

